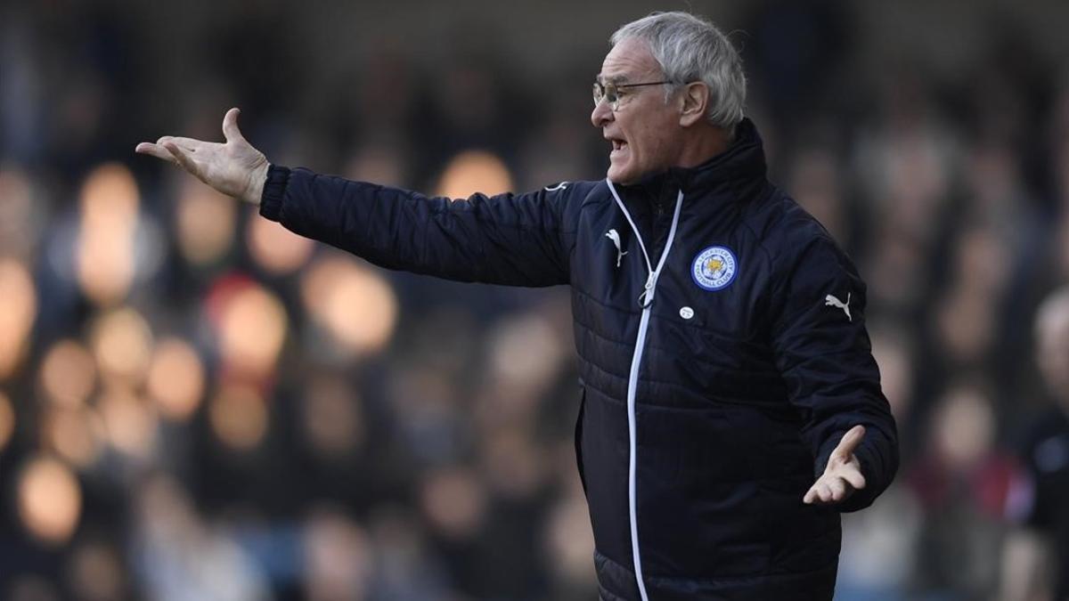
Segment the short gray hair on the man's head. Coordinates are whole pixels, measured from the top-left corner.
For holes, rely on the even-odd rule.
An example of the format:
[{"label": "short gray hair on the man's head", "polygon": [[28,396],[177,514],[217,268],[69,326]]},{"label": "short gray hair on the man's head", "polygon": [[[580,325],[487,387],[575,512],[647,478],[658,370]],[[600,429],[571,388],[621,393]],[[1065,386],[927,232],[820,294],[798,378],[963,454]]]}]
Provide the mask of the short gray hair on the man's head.
[{"label": "short gray hair on the man's head", "polygon": [[652,13],[616,30],[609,42],[616,46],[628,38],[649,44],[665,79],[675,88],[692,81],[708,86],[706,118],[717,127],[734,130],[746,104],[746,76],[739,52],[721,30],[690,13]]}]

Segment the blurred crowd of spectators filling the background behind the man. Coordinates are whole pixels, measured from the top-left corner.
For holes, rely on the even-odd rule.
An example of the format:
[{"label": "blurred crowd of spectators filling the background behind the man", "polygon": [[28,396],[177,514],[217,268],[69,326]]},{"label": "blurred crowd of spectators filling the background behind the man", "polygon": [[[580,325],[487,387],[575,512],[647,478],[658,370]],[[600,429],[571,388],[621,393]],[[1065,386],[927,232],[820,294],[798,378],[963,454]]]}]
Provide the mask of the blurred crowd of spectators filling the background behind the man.
[{"label": "blurred crowd of spectators filling the background behind the man", "polygon": [[[288,3],[196,4],[0,3],[0,598],[594,599],[566,289],[378,269],[133,149],[241,106],[282,165],[450,197],[598,179],[606,40],[676,6],[515,48],[493,15],[316,41]],[[874,4],[691,7],[869,287],[902,467],[845,517],[837,599],[1052,599],[1069,506],[1029,465],[1069,464],[1036,433],[1069,414],[1069,303],[1037,320],[1069,281],[1069,60],[1008,3],[945,32],[952,73],[888,57]]]}]

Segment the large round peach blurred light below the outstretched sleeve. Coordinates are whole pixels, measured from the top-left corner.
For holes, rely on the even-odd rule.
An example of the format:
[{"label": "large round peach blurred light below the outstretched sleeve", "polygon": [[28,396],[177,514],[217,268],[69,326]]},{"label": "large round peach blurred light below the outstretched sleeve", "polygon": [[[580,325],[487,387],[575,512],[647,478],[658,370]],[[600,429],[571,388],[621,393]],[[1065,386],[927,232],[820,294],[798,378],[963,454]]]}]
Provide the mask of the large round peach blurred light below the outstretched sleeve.
[{"label": "large round peach blurred light below the outstretched sleeve", "polygon": [[347,257],[316,261],[301,280],[301,297],[312,319],[352,353],[381,350],[397,325],[398,300],[389,282]]}]

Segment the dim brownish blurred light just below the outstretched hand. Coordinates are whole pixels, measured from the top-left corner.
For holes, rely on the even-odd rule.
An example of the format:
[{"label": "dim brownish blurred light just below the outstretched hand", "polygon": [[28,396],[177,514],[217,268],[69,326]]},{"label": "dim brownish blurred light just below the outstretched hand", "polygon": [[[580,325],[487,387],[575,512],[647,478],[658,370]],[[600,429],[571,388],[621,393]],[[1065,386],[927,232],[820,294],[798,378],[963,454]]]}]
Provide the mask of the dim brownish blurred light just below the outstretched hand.
[{"label": "dim brownish blurred light just below the outstretched hand", "polygon": [[175,209],[179,252],[195,265],[221,259],[234,243],[237,204],[228,196],[183,178]]}]

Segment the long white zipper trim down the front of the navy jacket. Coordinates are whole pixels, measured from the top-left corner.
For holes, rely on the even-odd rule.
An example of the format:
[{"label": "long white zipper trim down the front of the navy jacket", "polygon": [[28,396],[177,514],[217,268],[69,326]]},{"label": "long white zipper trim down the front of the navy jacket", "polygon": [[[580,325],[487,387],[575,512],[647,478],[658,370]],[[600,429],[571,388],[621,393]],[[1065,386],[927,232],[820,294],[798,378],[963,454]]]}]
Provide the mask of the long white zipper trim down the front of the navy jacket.
[{"label": "long white zipper trim down the front of the navy jacket", "polygon": [[637,495],[636,488],[637,482],[635,477],[635,465],[636,458],[638,454],[638,446],[636,443],[636,397],[638,394],[638,370],[642,363],[642,351],[646,348],[646,334],[650,324],[650,310],[653,307],[653,296],[657,287],[657,278],[661,277],[661,269],[664,268],[665,260],[668,258],[668,251],[671,250],[671,243],[676,237],[676,228],[679,226],[679,213],[683,206],[683,190],[679,190],[679,197],[676,199],[676,212],[672,214],[671,218],[671,229],[668,230],[668,241],[665,243],[665,248],[661,251],[661,259],[657,261],[657,267],[654,269],[653,264],[650,262],[650,255],[646,251],[646,244],[642,243],[642,234],[638,233],[638,228],[635,227],[635,221],[631,219],[631,213],[628,212],[628,207],[623,205],[623,201],[620,200],[620,195],[617,194],[616,187],[613,182],[605,180],[608,184],[608,189],[613,192],[613,198],[616,199],[616,203],[620,206],[620,211],[623,212],[623,216],[628,218],[628,224],[631,225],[631,230],[635,232],[635,238],[638,241],[638,246],[642,250],[642,258],[646,260],[646,269],[649,274],[646,277],[646,284],[642,289],[642,293],[638,296],[638,304],[642,307],[642,315],[638,321],[638,337],[635,340],[635,354],[631,358],[631,372],[628,376],[628,437],[629,437],[629,460],[628,460],[628,509],[631,518],[631,556],[635,564],[635,582],[638,584],[638,592],[642,598],[642,601],[649,601],[649,597],[646,594],[646,583],[642,582],[642,560],[641,554],[638,550],[638,508],[637,508]]}]

